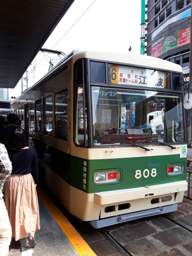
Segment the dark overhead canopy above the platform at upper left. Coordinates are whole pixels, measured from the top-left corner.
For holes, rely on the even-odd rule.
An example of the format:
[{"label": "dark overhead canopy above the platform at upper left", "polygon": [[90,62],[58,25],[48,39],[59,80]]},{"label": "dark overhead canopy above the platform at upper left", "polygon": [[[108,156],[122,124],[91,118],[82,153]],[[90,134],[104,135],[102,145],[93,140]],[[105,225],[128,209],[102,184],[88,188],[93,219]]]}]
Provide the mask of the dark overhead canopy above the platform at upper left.
[{"label": "dark overhead canopy above the platform at upper left", "polygon": [[0,88],[14,88],[74,0],[1,1]]}]

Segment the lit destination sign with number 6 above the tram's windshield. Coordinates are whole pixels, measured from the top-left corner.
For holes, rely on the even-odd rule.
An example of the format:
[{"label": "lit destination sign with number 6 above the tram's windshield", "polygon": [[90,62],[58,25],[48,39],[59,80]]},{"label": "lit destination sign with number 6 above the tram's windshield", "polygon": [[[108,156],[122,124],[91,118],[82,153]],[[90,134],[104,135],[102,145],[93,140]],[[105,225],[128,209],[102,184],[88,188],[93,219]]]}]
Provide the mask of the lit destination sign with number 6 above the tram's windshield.
[{"label": "lit destination sign with number 6 above the tram's windshield", "polygon": [[[110,84],[166,88],[169,72],[110,65]],[[169,76],[170,77],[170,76]]]}]

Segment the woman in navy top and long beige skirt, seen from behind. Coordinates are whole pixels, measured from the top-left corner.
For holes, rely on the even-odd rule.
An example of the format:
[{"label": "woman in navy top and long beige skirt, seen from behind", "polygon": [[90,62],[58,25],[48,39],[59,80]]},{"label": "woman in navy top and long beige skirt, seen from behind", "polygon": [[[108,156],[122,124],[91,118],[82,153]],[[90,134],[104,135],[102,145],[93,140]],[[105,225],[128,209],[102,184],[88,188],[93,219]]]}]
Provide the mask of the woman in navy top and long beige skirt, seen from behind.
[{"label": "woman in navy top and long beige skirt, seen from behind", "polygon": [[12,174],[5,184],[5,206],[9,215],[12,237],[20,240],[21,250],[34,247],[35,231],[40,229],[39,207],[36,194],[38,162],[34,148],[28,147],[28,140],[21,128],[10,134]]}]

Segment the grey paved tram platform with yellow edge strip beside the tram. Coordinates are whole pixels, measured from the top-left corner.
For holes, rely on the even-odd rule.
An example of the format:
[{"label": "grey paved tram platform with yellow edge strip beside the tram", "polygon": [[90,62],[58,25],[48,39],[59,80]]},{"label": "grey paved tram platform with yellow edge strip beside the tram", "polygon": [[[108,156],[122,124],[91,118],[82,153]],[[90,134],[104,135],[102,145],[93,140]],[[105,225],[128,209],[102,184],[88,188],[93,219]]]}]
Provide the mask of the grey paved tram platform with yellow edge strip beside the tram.
[{"label": "grey paved tram platform with yellow edge strip beside the tram", "polygon": [[42,188],[37,186],[40,226],[36,246],[20,252],[20,242],[10,244],[8,256],[96,256]]}]

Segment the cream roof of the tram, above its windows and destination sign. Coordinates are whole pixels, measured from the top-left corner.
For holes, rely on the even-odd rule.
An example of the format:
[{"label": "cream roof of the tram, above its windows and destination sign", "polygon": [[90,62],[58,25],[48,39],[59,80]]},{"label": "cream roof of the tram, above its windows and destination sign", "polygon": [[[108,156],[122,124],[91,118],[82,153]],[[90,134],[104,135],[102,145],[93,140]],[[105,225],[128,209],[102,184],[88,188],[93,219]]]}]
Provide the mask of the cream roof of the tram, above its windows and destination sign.
[{"label": "cream roof of the tram, above its windows and destination sign", "polygon": [[[69,53],[63,60],[61,60],[54,68],[52,68],[44,77],[42,77],[36,84],[31,86],[27,91],[21,94],[16,100],[12,102],[14,104],[18,100],[37,100],[36,92],[39,91],[39,87],[44,84],[49,76],[54,75],[65,65],[65,62],[69,59],[74,63],[76,60],[81,58],[89,58],[96,60],[104,60],[110,62],[119,62],[128,65],[139,65],[145,66],[151,69],[164,69],[167,71],[182,72],[182,67],[178,64],[169,62],[167,60],[161,60],[155,57],[144,56],[144,55],[132,55],[128,53],[117,53],[117,52],[100,52],[100,51],[77,51]],[[54,79],[54,78],[53,78]]]}]

